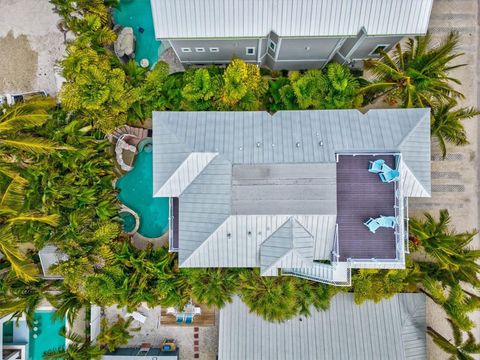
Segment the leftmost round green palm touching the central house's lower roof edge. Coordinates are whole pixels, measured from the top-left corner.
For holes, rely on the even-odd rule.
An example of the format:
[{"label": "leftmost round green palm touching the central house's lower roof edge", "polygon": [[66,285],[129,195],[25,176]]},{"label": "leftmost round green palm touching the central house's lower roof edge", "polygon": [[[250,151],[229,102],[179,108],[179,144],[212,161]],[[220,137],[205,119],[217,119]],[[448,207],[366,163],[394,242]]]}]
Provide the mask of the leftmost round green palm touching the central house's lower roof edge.
[{"label": "leftmost round green palm touching the central house's lower roof edge", "polygon": [[196,302],[222,308],[232,301],[238,286],[238,269],[188,269],[192,297]]}]

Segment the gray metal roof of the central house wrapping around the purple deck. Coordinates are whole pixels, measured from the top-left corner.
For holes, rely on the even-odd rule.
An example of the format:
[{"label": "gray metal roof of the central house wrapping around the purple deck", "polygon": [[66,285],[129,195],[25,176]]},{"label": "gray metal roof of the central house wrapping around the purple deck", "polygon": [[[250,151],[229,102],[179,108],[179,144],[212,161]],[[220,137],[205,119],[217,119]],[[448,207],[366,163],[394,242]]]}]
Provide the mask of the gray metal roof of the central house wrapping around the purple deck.
[{"label": "gray metal roof of the central house wrapping around the purple deck", "polygon": [[260,266],[261,243],[289,218],[329,258],[336,153],[403,147],[402,181],[428,196],[429,123],[428,109],[155,112],[154,194],[180,198],[181,266]]}]

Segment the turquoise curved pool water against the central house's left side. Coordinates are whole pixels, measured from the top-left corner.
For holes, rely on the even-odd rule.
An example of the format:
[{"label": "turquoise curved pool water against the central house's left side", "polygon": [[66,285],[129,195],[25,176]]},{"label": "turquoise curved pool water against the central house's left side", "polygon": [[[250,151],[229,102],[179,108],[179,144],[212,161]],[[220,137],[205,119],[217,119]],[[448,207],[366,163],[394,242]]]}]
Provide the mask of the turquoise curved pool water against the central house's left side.
[{"label": "turquoise curved pool water against the central house's left side", "polygon": [[168,231],[168,198],[153,197],[153,153],[151,139],[139,144],[134,167],[120,179],[116,187],[118,199],[140,218],[138,232],[148,238],[160,237]]}]

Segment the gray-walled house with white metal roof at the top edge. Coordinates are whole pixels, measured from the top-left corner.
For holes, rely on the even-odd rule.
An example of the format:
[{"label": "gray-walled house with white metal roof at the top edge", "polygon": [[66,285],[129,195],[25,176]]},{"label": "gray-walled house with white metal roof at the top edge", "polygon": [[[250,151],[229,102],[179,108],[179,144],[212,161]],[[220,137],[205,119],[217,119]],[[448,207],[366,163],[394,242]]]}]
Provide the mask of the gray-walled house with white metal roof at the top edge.
[{"label": "gray-walled house with white metal roof at the top edge", "polygon": [[[424,35],[433,0],[151,0],[155,36],[184,65],[232,58],[272,69],[378,57]],[[353,64],[352,64],[353,65]]]}]

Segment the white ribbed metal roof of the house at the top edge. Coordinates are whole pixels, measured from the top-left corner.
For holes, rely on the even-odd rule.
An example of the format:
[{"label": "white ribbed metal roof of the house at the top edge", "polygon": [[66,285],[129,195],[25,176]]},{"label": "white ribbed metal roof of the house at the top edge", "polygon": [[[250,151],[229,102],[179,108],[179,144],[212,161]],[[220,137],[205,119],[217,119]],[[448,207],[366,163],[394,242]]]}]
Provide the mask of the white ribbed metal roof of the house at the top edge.
[{"label": "white ribbed metal roof of the house at the top edge", "polygon": [[155,36],[425,34],[433,0],[151,0]]}]

